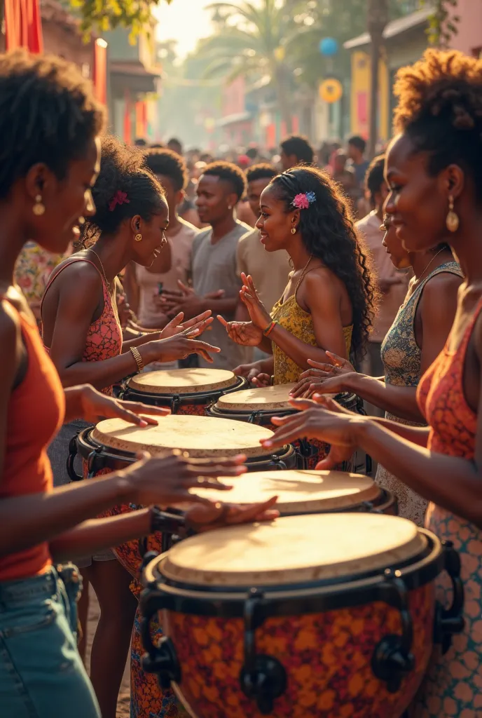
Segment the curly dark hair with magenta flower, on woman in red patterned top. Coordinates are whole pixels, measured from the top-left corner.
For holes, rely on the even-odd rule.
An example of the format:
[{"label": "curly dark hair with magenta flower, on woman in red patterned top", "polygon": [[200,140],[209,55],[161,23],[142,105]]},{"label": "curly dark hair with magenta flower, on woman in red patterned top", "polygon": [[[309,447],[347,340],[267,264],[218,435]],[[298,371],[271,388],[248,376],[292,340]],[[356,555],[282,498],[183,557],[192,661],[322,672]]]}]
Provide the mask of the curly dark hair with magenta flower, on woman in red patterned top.
[{"label": "curly dark hair with magenta flower, on woman in red patterned top", "polygon": [[92,194],[95,215],[82,225],[84,245],[101,233],[115,234],[123,220],[134,215],[149,220],[166,202],[159,180],[144,167],[143,151],[113,136],[102,139],[100,174]]}]

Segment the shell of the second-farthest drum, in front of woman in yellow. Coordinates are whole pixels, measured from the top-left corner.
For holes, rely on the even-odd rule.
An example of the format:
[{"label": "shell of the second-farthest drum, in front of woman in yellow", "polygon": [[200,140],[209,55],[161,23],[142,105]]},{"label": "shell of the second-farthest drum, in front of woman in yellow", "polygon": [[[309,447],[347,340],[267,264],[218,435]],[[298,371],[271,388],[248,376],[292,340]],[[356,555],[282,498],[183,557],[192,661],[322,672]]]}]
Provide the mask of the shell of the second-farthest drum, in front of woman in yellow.
[{"label": "shell of the second-farthest drum, in front of woman in yellow", "polygon": [[[336,401],[338,401],[339,404],[341,404],[341,406],[344,407],[344,409],[348,409],[349,411],[354,412],[359,411],[359,400],[355,394],[344,392],[337,394],[334,398],[336,399]],[[277,411],[276,409],[255,411],[240,411],[236,409],[235,411],[229,411],[227,409],[219,409],[216,406],[216,402],[213,402],[213,404],[207,406],[205,411],[206,416],[214,416],[217,419],[234,419],[235,421],[247,421],[248,424],[258,424],[259,426],[265,426],[267,429],[271,429],[271,431],[273,432],[278,429],[278,426],[275,426],[275,424],[271,423],[271,419],[273,419],[273,416],[292,416],[294,414],[298,414],[298,411],[296,411],[296,409],[280,409],[279,411]],[[298,452],[300,452],[301,456],[303,457],[303,468],[306,469],[314,469],[318,461],[321,461],[324,457],[326,457],[330,449],[329,444],[326,444],[326,442],[318,441],[318,439],[311,439],[309,441],[303,439],[302,441],[293,442],[293,446],[298,449]],[[355,455],[351,457],[350,460],[343,462],[336,468],[341,471],[354,471],[354,457]]]}]

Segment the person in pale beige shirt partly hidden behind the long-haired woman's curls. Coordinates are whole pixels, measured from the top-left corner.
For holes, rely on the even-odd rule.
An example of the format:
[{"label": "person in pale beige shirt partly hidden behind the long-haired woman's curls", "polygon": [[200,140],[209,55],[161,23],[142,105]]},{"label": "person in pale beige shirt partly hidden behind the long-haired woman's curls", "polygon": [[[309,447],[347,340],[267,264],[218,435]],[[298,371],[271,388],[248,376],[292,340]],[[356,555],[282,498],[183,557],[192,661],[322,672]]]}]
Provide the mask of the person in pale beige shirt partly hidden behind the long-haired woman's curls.
[{"label": "person in pale beige shirt partly hidden behind the long-haired woman's curls", "polygon": [[387,198],[388,189],[384,180],[384,156],[375,157],[367,169],[365,187],[369,194],[372,211],[356,223],[369,248],[372,265],[377,276],[379,292],[381,294],[379,309],[374,319],[374,327],[369,336],[367,361],[369,366],[366,373],[371,376],[383,376],[384,368],[380,357],[380,349],[385,335],[392,326],[394,318],[400,309],[405,294],[407,294],[410,276],[394,268],[384,246],[383,233],[380,225],[383,220],[383,205]]}]

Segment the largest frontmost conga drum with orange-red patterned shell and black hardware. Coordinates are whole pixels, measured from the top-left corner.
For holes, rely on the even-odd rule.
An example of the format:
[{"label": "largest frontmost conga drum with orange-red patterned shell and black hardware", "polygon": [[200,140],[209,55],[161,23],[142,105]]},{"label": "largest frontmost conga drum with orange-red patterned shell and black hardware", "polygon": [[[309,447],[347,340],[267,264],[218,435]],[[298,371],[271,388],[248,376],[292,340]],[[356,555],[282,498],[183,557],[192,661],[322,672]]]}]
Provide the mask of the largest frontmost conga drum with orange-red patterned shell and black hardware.
[{"label": "largest frontmost conga drum with orange-red patterned shell and black hardware", "polygon": [[[435,602],[443,569],[447,611]],[[434,642],[461,628],[458,554],[397,516],[288,516],[203,533],[151,561],[143,582],[144,670],[193,718],[399,718]]]}]

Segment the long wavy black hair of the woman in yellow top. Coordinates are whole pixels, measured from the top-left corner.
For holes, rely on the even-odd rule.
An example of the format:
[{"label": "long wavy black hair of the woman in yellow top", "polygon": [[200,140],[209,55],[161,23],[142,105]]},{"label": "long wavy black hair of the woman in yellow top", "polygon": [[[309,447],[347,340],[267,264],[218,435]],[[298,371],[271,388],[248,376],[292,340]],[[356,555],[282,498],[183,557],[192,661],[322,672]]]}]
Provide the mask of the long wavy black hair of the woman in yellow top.
[{"label": "long wavy black hair of the woman in yellow top", "polygon": [[296,195],[313,192],[315,201],[301,210],[298,225],[307,251],[321,259],[344,283],[353,310],[351,350],[364,355],[372,327],[377,290],[372,281],[371,263],[364,240],[336,183],[317,167],[295,167],[270,182],[286,212],[293,212]]}]

